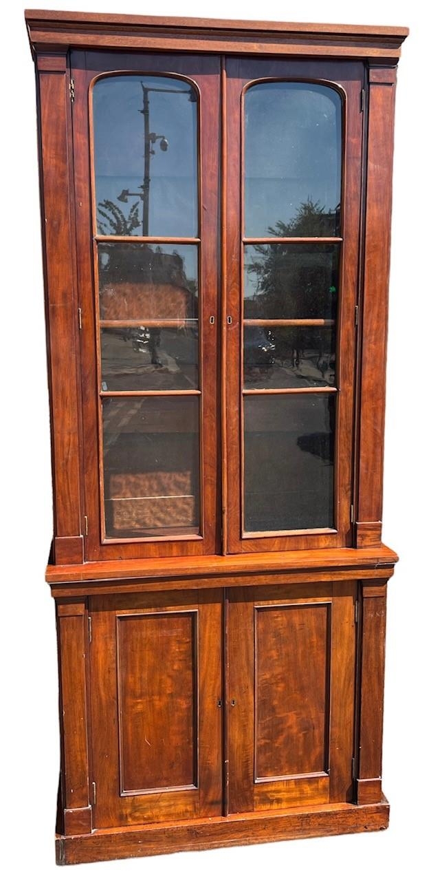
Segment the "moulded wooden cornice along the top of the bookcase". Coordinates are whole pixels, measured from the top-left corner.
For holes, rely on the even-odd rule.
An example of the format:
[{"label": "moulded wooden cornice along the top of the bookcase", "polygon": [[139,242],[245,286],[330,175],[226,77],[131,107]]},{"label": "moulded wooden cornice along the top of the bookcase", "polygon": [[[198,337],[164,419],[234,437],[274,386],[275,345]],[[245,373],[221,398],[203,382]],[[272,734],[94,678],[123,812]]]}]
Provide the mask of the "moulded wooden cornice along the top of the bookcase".
[{"label": "moulded wooden cornice along the top of the bookcase", "polygon": [[396,64],[406,27],[26,10],[33,53],[69,48],[364,58]]}]

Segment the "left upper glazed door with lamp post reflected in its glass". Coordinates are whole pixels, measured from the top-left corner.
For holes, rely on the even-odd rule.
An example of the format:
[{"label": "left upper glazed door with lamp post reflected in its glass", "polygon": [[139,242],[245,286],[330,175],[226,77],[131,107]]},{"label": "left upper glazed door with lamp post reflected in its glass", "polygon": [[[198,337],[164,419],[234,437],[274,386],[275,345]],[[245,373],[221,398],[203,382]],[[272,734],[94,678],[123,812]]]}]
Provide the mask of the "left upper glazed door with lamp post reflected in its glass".
[{"label": "left upper glazed door with lamp post reflected in its glass", "polygon": [[85,559],[220,544],[220,58],[73,52]]}]

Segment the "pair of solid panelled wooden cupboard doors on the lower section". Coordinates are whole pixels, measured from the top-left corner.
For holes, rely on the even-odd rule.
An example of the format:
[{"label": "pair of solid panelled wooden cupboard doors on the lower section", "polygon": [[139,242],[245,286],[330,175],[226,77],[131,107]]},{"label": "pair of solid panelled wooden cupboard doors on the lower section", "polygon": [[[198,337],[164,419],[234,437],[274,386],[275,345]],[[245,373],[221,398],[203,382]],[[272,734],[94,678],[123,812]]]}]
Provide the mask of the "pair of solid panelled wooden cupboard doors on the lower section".
[{"label": "pair of solid panelled wooden cupboard doors on the lower section", "polygon": [[92,825],[353,801],[356,582],[91,597]]}]

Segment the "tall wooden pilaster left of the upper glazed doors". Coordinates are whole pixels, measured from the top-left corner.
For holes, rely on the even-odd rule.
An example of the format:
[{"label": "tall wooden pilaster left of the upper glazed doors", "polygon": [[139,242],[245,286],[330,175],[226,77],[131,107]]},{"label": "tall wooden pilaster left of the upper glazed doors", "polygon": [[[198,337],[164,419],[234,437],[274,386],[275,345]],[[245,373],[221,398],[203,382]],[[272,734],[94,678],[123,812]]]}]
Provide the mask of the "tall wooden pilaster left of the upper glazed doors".
[{"label": "tall wooden pilaster left of the upper glazed doors", "polygon": [[55,562],[82,563],[77,304],[67,56],[38,56],[40,199],[51,398]]}]

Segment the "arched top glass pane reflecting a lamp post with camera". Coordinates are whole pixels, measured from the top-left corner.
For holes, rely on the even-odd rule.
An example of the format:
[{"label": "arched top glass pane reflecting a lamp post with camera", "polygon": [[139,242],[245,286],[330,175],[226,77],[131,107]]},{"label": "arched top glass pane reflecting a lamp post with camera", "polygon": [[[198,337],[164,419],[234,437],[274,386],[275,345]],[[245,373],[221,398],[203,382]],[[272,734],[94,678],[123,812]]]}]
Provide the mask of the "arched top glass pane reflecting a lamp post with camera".
[{"label": "arched top glass pane reflecting a lamp post with camera", "polygon": [[173,77],[94,85],[100,235],[198,234],[196,100],[194,87]]}]

